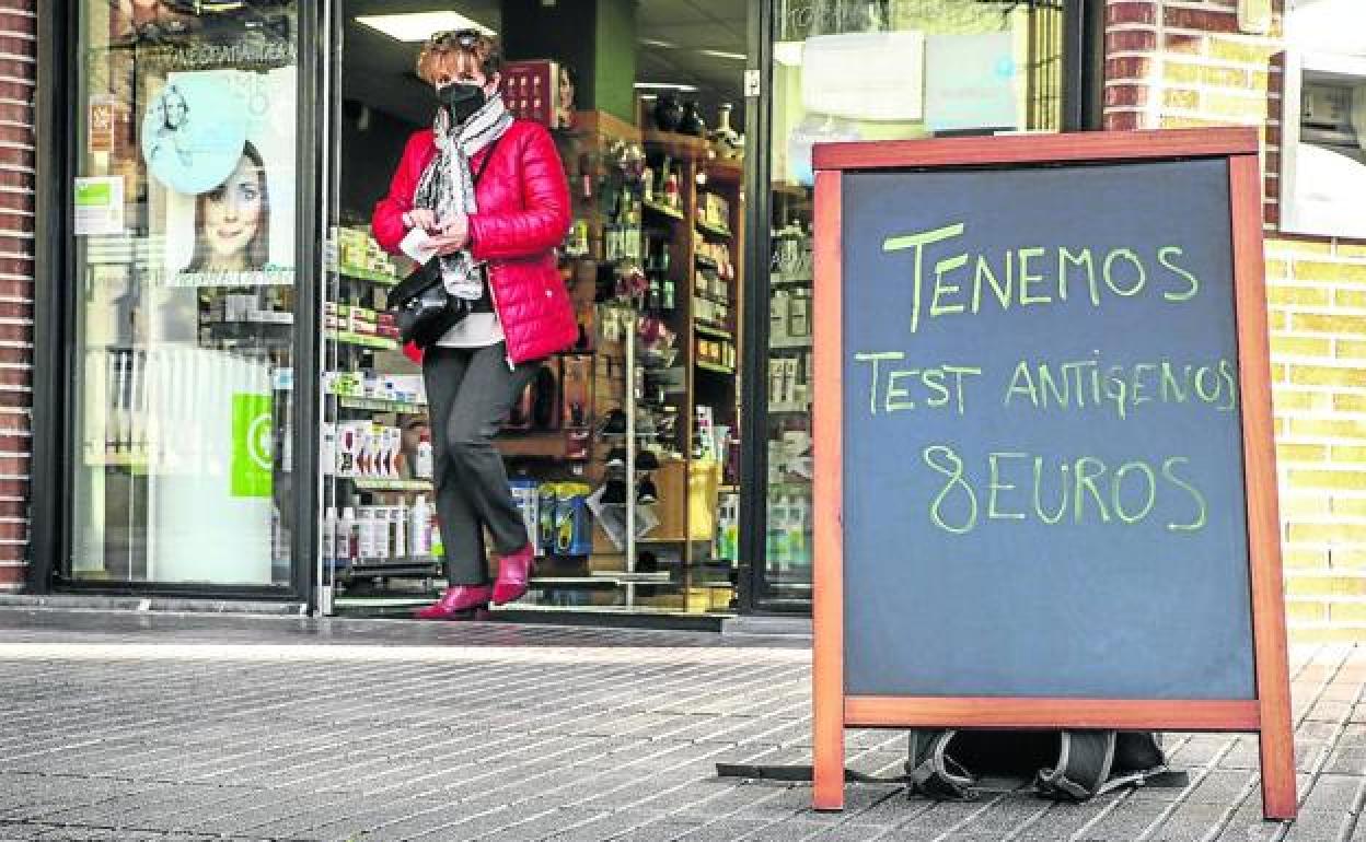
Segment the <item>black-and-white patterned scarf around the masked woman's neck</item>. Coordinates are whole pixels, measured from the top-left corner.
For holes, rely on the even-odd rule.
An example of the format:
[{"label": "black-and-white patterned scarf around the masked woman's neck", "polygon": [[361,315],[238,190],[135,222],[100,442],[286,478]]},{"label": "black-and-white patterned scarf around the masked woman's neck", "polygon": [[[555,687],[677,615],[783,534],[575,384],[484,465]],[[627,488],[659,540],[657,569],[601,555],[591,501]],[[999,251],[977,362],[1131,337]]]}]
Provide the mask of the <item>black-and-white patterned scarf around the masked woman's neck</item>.
[{"label": "black-and-white patterned scarf around the masked woman's neck", "polygon": [[[447,109],[438,108],[432,123],[437,154],[422,172],[413,205],[434,210],[438,220],[451,218],[456,213],[478,212],[470,158],[501,138],[510,126],[512,115],[503,104],[501,94],[489,97],[479,111],[470,115],[470,119],[460,126],[452,126]],[[479,266],[470,258],[469,251],[456,251],[440,261],[441,281],[447,292],[470,300],[484,295]]]}]

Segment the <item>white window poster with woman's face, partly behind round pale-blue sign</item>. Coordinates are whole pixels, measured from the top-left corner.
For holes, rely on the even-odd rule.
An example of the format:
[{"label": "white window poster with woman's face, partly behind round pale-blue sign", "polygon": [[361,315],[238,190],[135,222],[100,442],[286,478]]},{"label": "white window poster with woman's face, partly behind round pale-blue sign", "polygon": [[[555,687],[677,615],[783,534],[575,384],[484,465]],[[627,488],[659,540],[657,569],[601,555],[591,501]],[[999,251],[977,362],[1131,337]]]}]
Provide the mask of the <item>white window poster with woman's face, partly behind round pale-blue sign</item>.
[{"label": "white window poster with woman's face, partly behind round pale-blue sign", "polygon": [[[212,184],[165,192],[165,270],[190,285],[212,285],[236,273],[246,284],[290,282],[294,269],[294,116],[295,71],[193,71],[171,74],[160,100],[184,87],[186,76],[214,74],[242,109],[243,139],[228,161],[217,162]],[[187,98],[187,120],[199,116]],[[194,277],[187,277],[194,276]]]}]

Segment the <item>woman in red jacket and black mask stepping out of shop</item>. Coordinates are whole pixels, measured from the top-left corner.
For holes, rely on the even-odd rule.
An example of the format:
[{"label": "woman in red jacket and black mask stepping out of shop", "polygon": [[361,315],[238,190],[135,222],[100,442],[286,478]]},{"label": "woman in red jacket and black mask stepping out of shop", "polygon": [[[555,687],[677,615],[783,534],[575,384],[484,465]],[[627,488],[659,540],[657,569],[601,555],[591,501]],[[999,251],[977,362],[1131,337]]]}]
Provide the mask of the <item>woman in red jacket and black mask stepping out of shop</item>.
[{"label": "woman in red jacket and black mask stepping out of shop", "polygon": [[[418,611],[430,620],[470,617],[526,592],[534,551],[490,438],[540,360],[578,337],[555,255],[570,228],[564,168],[544,127],[507,112],[500,68],[497,45],[478,31],[428,40],[417,72],[436,91],[433,127],[408,139],[372,225],[389,251],[421,229],[447,291],[474,303],[422,356],[451,579]],[[485,528],[499,557],[492,587]]]}]

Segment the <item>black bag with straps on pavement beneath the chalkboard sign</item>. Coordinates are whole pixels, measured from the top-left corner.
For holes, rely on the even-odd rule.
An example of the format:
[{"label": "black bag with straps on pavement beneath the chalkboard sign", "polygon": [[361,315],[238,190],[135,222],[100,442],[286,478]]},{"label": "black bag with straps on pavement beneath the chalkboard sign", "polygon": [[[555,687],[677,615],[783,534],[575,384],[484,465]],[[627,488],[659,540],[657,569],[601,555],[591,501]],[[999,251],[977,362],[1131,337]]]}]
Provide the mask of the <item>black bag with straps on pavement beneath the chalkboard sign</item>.
[{"label": "black bag with straps on pavement beneath the chalkboard sign", "polygon": [[938,800],[975,798],[988,779],[1033,781],[1059,801],[1086,801],[1120,786],[1172,786],[1160,736],[1115,730],[912,729],[907,789]]}]

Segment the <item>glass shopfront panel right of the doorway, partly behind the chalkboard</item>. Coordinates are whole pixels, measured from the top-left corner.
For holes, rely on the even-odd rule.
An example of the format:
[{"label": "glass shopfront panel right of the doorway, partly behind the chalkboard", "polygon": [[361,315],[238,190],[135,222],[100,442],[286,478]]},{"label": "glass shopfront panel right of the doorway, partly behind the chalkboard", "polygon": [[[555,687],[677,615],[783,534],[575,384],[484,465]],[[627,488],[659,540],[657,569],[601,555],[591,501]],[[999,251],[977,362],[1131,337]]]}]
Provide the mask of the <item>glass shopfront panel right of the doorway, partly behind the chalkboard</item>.
[{"label": "glass shopfront panel right of the doorway, partly behind the chalkboard", "polygon": [[[775,0],[769,72],[769,318],[753,393],[765,486],[755,605],[809,611],[813,172],[825,141],[1059,131],[1063,0]],[[759,527],[757,527],[759,528]]]}]

